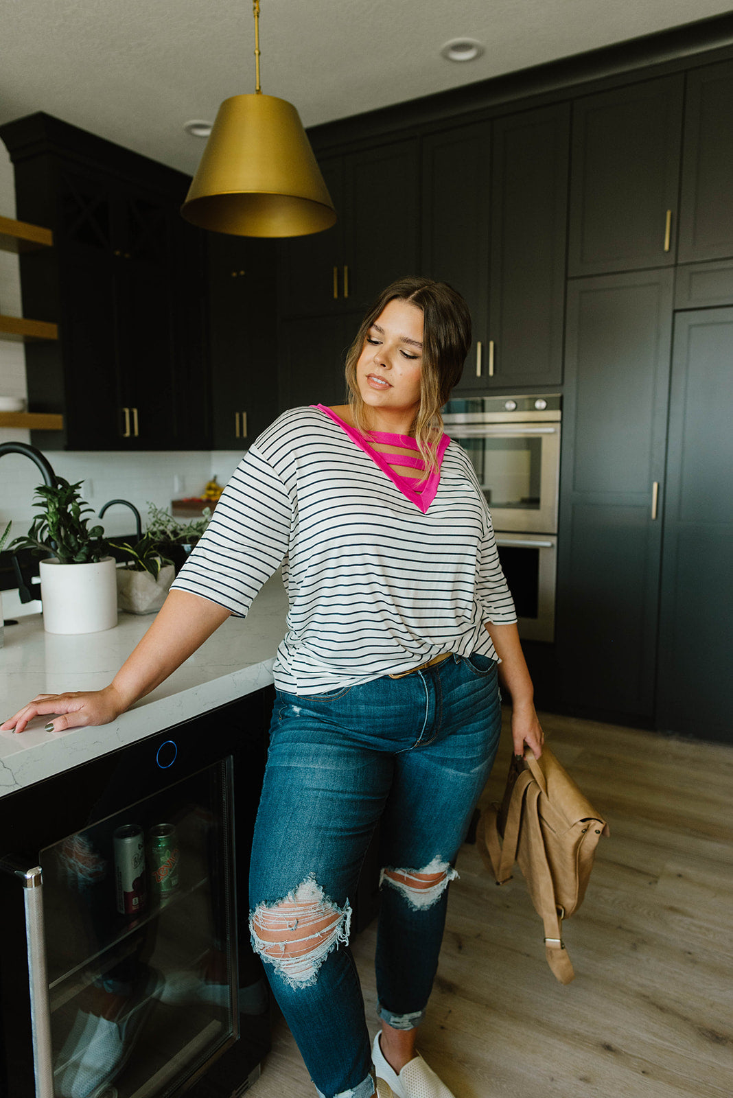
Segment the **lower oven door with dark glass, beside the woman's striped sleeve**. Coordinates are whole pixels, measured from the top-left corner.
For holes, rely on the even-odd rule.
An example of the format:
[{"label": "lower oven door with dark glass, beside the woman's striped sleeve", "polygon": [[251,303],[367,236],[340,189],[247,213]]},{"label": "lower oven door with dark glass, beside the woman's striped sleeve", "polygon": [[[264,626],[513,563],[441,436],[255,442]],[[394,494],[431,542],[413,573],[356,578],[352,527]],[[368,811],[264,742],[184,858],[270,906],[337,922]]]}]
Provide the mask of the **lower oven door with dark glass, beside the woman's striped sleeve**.
[{"label": "lower oven door with dark glass, beside the woman's striped sleeve", "polygon": [[556,537],[496,534],[501,569],[517,608],[523,640],[555,638]]}]

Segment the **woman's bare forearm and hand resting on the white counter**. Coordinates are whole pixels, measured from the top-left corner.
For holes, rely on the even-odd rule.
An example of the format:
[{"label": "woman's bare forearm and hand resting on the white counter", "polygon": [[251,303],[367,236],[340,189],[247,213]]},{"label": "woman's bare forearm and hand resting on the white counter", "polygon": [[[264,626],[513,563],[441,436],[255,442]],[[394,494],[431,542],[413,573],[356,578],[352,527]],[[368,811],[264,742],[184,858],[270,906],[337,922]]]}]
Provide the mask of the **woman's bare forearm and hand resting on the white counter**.
[{"label": "woman's bare forearm and hand resting on the white counter", "polygon": [[171,591],[155,621],[109,686],[81,693],[38,694],[0,725],[0,730],[14,728],[22,732],[33,717],[50,713],[60,714],[53,721],[56,732],[106,725],[159,686],[228,616],[228,609],[207,598],[185,591]]}]

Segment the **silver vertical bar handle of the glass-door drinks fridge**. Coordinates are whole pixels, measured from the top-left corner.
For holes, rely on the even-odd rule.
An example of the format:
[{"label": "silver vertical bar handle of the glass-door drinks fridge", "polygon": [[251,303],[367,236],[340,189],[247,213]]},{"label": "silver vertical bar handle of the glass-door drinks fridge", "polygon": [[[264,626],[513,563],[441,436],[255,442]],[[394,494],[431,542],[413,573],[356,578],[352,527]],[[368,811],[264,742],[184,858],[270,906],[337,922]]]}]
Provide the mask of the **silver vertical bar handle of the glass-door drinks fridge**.
[{"label": "silver vertical bar handle of the glass-door drinks fridge", "polygon": [[15,858],[3,858],[0,861],[0,866],[14,874],[23,885],[35,1098],[54,1098],[46,935],[43,921],[43,871],[40,865],[27,870],[24,867],[24,863]]}]

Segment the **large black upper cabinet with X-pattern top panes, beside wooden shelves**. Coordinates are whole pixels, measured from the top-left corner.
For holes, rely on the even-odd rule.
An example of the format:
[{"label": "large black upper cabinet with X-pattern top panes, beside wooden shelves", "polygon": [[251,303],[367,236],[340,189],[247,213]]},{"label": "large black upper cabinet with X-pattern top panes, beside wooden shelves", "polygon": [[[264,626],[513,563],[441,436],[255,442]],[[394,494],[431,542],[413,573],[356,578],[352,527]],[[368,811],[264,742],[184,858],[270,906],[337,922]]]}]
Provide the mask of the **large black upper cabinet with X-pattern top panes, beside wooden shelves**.
[{"label": "large black upper cabinet with X-pattern top panes, beside wooden shelves", "polygon": [[21,255],[23,310],[58,323],[26,346],[29,406],[65,415],[46,448],[208,447],[201,234],[188,177],[45,114],[0,131],[19,215],[54,231]]}]

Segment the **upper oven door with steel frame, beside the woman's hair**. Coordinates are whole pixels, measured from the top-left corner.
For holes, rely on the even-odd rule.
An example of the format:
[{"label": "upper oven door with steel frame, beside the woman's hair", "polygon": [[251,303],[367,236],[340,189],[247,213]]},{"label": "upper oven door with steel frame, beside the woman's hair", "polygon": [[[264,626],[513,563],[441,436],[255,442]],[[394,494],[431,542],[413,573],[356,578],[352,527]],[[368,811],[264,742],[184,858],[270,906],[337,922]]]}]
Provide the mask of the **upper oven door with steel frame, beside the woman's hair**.
[{"label": "upper oven door with steel frame, beside the woman's hair", "polygon": [[448,430],[476,470],[495,530],[557,533],[559,423],[455,424]]}]

